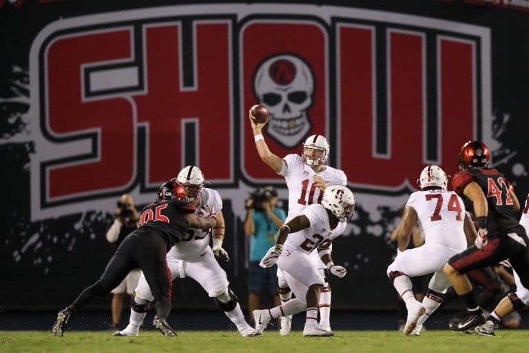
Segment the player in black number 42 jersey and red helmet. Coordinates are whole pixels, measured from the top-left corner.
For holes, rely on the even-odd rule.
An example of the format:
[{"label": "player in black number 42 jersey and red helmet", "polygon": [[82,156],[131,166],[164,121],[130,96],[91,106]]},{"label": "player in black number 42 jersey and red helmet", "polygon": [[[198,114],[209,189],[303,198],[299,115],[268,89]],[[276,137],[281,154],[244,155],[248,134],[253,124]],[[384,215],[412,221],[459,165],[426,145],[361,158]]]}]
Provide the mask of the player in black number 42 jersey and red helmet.
[{"label": "player in black number 42 jersey and red helmet", "polygon": [[[529,288],[529,239],[515,216],[520,204],[504,174],[488,168],[489,161],[490,152],[484,143],[468,141],[459,152],[460,170],[452,179],[455,192],[472,203],[479,227],[475,245],[452,256],[444,267],[467,308],[467,315],[453,327],[458,331],[486,323],[466,272],[509,259],[523,287]],[[508,300],[515,309],[524,305],[516,294],[508,294]]]}]

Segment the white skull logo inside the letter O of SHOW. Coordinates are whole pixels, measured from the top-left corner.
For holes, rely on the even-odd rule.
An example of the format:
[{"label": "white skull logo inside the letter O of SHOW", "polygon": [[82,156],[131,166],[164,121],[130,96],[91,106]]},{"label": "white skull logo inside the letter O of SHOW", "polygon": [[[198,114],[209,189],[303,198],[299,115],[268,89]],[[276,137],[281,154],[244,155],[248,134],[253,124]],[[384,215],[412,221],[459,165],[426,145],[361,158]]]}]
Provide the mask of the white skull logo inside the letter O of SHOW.
[{"label": "white skull logo inside the letter O of SHOW", "polygon": [[270,57],[256,71],[253,90],[269,110],[268,134],[287,148],[299,145],[311,130],[307,109],[314,79],[309,65],[291,54]]}]

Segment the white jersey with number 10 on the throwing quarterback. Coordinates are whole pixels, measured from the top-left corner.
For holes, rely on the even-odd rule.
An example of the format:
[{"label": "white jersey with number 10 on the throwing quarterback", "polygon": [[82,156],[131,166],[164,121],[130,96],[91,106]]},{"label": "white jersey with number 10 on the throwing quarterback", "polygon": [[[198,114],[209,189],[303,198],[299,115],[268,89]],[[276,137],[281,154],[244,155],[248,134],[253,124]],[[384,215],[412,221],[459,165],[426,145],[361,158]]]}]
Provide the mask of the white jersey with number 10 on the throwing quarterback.
[{"label": "white jersey with number 10 on the throwing quarterback", "polygon": [[278,173],[287,181],[289,189],[289,212],[285,223],[301,213],[313,203],[320,203],[323,191],[314,185],[313,177],[319,175],[327,185],[347,185],[347,178],[342,170],[326,165],[322,171],[315,172],[303,163],[299,154],[288,154],[283,158],[283,167]]}]

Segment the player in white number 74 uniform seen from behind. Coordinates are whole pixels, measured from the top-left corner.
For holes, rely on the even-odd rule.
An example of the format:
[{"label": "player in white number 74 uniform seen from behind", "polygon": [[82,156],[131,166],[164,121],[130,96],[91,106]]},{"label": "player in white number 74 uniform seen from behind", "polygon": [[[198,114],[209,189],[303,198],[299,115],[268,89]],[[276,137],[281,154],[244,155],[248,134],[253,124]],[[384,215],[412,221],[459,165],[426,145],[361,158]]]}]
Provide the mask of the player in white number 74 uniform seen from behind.
[{"label": "player in white number 74 uniform seen from behind", "polygon": [[[398,233],[398,254],[387,270],[406,303],[408,317],[404,334],[407,336],[419,336],[424,321],[441,305],[444,293],[450,287],[450,281],[443,273],[444,265],[450,256],[466,249],[464,225],[470,231],[474,230],[461,198],[446,190],[444,170],[430,165],[422,170],[417,183],[421,191],[413,192],[406,203]],[[406,250],[415,223],[424,232],[424,245]],[[410,277],[431,273],[428,291],[420,303],[413,296]]]}]

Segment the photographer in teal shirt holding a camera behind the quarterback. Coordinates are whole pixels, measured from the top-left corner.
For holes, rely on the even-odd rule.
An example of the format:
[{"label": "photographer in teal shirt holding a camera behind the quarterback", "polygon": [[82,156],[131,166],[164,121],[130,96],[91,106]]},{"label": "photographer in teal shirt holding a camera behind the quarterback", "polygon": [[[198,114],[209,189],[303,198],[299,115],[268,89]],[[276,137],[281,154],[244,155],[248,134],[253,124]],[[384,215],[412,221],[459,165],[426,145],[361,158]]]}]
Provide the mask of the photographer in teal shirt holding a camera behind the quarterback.
[{"label": "photographer in teal shirt holding a camera behind the quarterback", "polygon": [[275,244],[274,236],[287,218],[282,208],[276,208],[277,204],[278,192],[273,186],[255,190],[246,201],[245,234],[250,237],[248,285],[250,321],[253,320],[251,315],[253,310],[260,307],[261,294],[273,298],[274,305],[281,303],[277,292],[277,266],[274,265],[273,268],[259,266],[264,254]]}]

